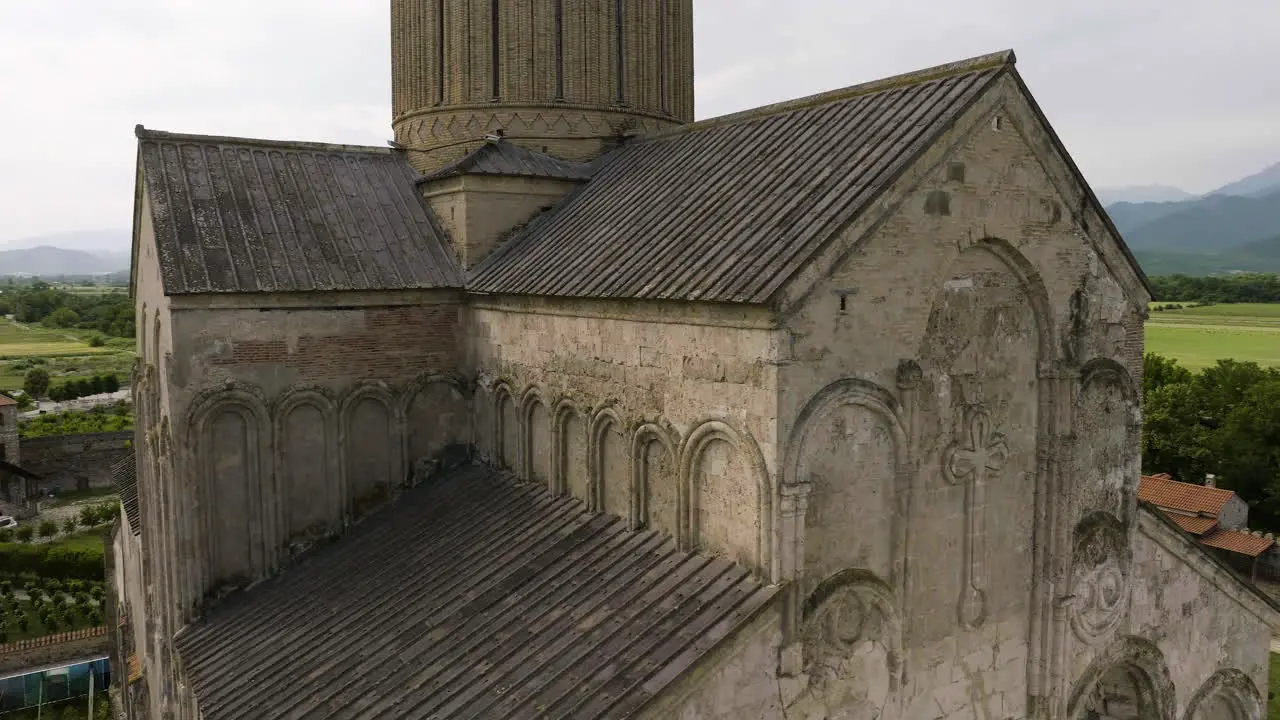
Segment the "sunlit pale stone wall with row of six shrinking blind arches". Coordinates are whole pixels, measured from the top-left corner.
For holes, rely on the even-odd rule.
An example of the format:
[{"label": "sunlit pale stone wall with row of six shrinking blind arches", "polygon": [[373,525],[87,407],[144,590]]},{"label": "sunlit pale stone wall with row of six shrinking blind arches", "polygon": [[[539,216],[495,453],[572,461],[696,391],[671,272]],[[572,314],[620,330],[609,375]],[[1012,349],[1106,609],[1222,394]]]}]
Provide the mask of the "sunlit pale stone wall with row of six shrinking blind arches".
[{"label": "sunlit pale stone wall with row of six shrinking blind arches", "polygon": [[778,336],[744,310],[664,311],[477,304],[477,443],[556,492],[767,570]]}]

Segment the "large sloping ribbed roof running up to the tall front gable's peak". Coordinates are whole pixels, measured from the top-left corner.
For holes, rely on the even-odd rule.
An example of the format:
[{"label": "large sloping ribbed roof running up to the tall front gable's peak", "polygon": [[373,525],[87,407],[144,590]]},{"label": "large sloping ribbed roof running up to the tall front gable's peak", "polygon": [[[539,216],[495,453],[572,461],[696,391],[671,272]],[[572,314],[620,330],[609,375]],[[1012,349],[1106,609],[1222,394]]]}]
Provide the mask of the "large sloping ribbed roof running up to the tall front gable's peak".
[{"label": "large sloping ribbed roof running up to the tall front gable's peak", "polygon": [[1012,64],[986,55],[625,146],[470,288],[765,302]]}]

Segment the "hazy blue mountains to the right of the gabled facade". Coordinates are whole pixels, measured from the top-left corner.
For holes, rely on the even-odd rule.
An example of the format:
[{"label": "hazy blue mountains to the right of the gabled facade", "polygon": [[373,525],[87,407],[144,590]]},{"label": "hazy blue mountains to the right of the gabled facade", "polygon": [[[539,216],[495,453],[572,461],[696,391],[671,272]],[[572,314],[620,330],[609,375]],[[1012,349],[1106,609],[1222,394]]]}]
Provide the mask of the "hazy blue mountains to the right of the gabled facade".
[{"label": "hazy blue mountains to the right of the gabled facade", "polygon": [[1162,186],[1098,196],[1165,197],[1107,205],[1149,275],[1280,272],[1280,163],[1202,196]]}]

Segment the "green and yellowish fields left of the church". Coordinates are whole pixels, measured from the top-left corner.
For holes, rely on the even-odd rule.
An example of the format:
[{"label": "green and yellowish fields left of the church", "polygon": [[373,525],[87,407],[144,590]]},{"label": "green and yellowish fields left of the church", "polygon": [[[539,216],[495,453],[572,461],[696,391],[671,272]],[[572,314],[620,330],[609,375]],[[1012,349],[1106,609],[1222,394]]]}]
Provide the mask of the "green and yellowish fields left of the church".
[{"label": "green and yellowish fields left of the church", "polygon": [[35,363],[55,379],[115,373],[128,378],[133,364],[133,341],[108,338],[102,347],[91,347],[97,333],[23,325],[0,318],[0,389],[17,389]]}]

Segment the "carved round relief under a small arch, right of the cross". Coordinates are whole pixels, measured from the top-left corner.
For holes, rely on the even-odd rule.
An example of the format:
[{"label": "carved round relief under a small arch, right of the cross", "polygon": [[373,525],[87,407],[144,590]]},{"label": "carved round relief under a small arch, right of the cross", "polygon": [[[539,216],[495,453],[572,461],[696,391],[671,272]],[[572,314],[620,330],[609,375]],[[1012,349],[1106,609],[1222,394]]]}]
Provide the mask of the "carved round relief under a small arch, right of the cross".
[{"label": "carved round relief under a small arch, right of the cross", "polygon": [[1106,638],[1124,618],[1130,589],[1129,543],[1112,515],[1094,512],[1075,530],[1071,552],[1071,629],[1087,643]]}]

